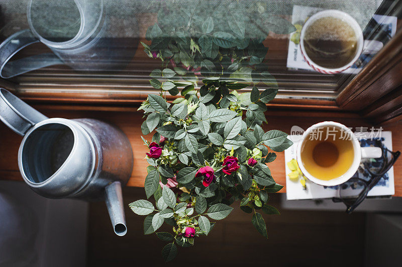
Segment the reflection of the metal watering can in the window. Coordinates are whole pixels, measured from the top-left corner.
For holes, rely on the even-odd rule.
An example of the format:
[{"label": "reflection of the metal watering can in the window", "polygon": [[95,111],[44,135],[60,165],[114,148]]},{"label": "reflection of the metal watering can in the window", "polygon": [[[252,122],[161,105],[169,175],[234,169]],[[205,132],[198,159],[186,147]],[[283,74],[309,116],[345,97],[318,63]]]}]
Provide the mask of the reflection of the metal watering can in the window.
[{"label": "reflection of the metal watering can in the window", "polygon": [[[39,68],[63,64],[85,68],[96,60],[92,49],[104,31],[103,1],[30,0],[27,20],[30,29],[7,38],[1,45],[0,76],[11,78]],[[42,42],[54,53],[10,61],[23,48]],[[86,64],[83,66],[82,63]]]}]

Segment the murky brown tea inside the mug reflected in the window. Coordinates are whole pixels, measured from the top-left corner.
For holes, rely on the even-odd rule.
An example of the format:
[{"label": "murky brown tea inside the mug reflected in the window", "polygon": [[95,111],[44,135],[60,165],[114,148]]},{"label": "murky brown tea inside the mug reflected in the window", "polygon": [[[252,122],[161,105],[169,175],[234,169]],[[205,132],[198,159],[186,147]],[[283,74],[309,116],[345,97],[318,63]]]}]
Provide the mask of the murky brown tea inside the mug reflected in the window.
[{"label": "murky brown tea inside the mug reflected in the window", "polygon": [[355,57],[357,36],[347,22],[324,17],[306,29],[304,48],[317,65],[336,69],[349,64]]}]

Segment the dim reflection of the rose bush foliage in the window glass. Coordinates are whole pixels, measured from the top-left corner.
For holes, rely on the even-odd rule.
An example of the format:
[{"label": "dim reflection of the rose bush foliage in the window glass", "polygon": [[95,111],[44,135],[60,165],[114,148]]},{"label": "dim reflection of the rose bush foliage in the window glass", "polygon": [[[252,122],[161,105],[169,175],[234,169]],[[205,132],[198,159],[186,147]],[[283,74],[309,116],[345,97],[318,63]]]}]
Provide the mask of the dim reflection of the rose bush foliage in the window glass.
[{"label": "dim reflection of the rose bush foliage in the window glass", "polygon": [[146,32],[151,45],[142,44],[150,58],[161,59],[189,81],[199,71],[207,78],[272,86],[275,81],[262,63],[268,52],[262,42],[269,32],[294,31],[289,21],[244,1],[172,1],[159,7],[157,23]]}]

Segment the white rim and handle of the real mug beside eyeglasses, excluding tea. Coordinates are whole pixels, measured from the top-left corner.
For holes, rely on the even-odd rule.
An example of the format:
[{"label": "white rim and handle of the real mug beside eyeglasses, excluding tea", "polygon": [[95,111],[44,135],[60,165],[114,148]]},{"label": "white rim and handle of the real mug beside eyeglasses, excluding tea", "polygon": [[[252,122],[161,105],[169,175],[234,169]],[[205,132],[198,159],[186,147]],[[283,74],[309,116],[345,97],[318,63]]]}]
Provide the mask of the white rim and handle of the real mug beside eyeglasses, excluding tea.
[{"label": "white rim and handle of the real mug beside eyeglasses, excluding tea", "polygon": [[[301,159],[301,154],[302,154],[302,149],[303,145],[307,140],[309,140],[310,135],[313,131],[317,131],[317,129],[322,129],[322,128],[333,128],[335,127],[336,129],[340,131],[344,131],[346,135],[348,135],[350,138],[348,140],[352,141],[353,144],[353,151],[354,151],[354,158],[351,166],[349,169],[343,173],[341,176],[338,176],[336,178],[333,178],[331,180],[322,180],[319,178],[314,177],[311,175],[307,169],[305,168],[302,159]],[[338,123],[338,122],[333,122],[333,121],[324,121],[320,122],[317,124],[314,124],[313,126],[309,127],[303,134],[302,139],[299,141],[297,144],[297,150],[296,150],[296,160],[297,164],[300,168],[300,170],[303,172],[303,174],[312,182],[324,186],[334,186],[334,185],[339,185],[347,180],[349,180],[353,174],[356,173],[357,169],[359,168],[360,162],[362,158],[379,158],[382,156],[382,151],[381,148],[379,147],[361,147],[359,140],[357,139],[356,135],[353,134],[353,132],[347,128],[345,125]]]}]

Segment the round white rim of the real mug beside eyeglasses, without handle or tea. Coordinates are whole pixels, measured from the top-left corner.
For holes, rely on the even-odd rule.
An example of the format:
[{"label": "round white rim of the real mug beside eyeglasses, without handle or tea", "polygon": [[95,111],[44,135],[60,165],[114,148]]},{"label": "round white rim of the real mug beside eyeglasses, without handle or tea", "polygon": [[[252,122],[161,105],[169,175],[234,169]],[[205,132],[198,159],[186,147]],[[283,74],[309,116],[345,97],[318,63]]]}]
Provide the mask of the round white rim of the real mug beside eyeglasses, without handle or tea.
[{"label": "round white rim of the real mug beside eyeglasses, without handle or tea", "polygon": [[[341,128],[345,131],[346,134],[350,134],[350,136],[352,137],[351,141],[353,143],[354,158],[353,158],[352,165],[344,174],[342,174],[339,177],[333,178],[331,180],[321,180],[321,179],[318,179],[318,178],[314,177],[313,175],[311,175],[304,167],[303,162],[301,160],[302,144],[303,144],[304,140],[310,135],[310,133],[313,130],[320,128],[320,127],[331,127],[331,126]],[[361,162],[361,146],[360,146],[359,140],[357,139],[356,135],[354,135],[353,132],[348,127],[346,127],[345,125],[338,123],[338,122],[324,121],[324,122],[320,122],[320,123],[312,125],[303,133],[302,139],[297,144],[296,161],[297,161],[298,167],[300,168],[302,173],[310,181],[312,181],[316,184],[319,184],[319,185],[335,186],[335,185],[339,185],[339,184],[346,182],[347,180],[352,178],[353,174],[356,173],[357,169],[359,168],[360,162]]]}]

